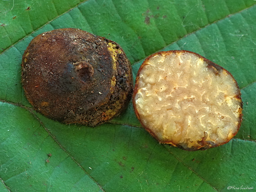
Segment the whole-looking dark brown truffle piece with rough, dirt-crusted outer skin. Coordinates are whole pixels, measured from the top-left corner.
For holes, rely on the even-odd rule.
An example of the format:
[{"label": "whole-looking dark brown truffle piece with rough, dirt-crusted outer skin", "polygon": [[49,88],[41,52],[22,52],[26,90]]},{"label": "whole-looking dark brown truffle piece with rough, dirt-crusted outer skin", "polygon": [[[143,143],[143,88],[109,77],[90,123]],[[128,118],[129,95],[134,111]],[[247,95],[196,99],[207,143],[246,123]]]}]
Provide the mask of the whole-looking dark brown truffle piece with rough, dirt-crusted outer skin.
[{"label": "whole-looking dark brown truffle piece with rough, dirt-crusted outer skin", "polygon": [[26,48],[22,84],[31,105],[46,117],[96,126],[127,107],[132,70],[114,41],[57,29],[36,36]]}]

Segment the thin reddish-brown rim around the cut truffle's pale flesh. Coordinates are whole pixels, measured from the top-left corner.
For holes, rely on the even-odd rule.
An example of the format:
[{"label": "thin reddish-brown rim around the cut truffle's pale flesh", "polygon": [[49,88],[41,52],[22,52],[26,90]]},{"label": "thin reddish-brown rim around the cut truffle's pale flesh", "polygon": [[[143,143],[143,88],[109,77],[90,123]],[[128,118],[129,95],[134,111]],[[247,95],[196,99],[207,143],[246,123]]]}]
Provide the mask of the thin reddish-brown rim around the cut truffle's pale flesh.
[{"label": "thin reddish-brown rim around the cut truffle's pale flesh", "polygon": [[[218,143],[218,142],[214,143],[211,140],[207,140],[207,136],[208,136],[207,132],[206,133],[204,132],[203,133],[204,136],[201,137],[201,140],[198,140],[199,145],[190,146],[190,147],[185,146],[184,144],[179,144],[179,143],[173,142],[172,139],[161,138],[161,137],[159,137],[159,135],[157,135],[155,133],[154,127],[150,127],[149,125],[146,125],[146,123],[143,121],[144,117],[141,115],[140,111],[137,108],[136,96],[137,96],[138,92],[140,92],[140,89],[142,88],[142,87],[139,87],[140,76],[143,73],[144,67],[146,65],[149,65],[149,62],[151,61],[151,59],[156,57],[156,56],[165,57],[165,56],[170,55],[170,54],[186,54],[186,53],[192,54],[192,55],[194,55],[194,57],[198,57],[198,59],[201,59],[203,61],[203,63],[205,63],[205,67],[207,68],[207,70],[212,71],[213,74],[215,74],[216,76],[221,75],[221,73],[227,74],[233,80],[234,87],[236,87],[236,93],[235,93],[235,96],[234,96],[234,100],[237,100],[237,102],[238,102],[237,113],[239,113],[239,114],[238,114],[238,117],[236,119],[237,120],[237,123],[236,123],[237,126],[234,128],[235,131],[232,132],[231,134],[229,134],[228,137],[226,138],[226,140],[224,140],[220,143]],[[155,71],[155,73],[157,73],[157,72]],[[229,71],[225,70],[220,65],[215,64],[214,62],[206,59],[205,57],[202,57],[201,55],[199,55],[197,53],[186,51],[186,50],[172,50],[172,51],[166,51],[166,52],[164,52],[164,51],[163,52],[157,52],[157,53],[154,53],[154,54],[150,55],[149,57],[147,57],[146,60],[140,66],[140,68],[137,72],[136,83],[135,83],[133,96],[132,96],[132,103],[133,103],[133,108],[134,108],[134,111],[135,111],[135,114],[136,114],[137,118],[141,122],[141,125],[146,129],[146,131],[148,131],[150,133],[150,135],[152,135],[160,143],[171,144],[174,147],[178,147],[178,148],[188,150],[188,151],[196,151],[196,150],[199,150],[199,149],[200,150],[205,150],[207,148],[212,148],[212,147],[216,147],[216,146],[220,146],[222,144],[228,143],[234,137],[234,135],[237,134],[237,132],[238,132],[240,126],[241,126],[242,117],[243,117],[243,115],[242,115],[243,103],[242,103],[242,99],[241,99],[241,92],[240,92],[240,89],[238,87],[238,83],[236,82],[236,80],[234,79],[232,74]]]}]

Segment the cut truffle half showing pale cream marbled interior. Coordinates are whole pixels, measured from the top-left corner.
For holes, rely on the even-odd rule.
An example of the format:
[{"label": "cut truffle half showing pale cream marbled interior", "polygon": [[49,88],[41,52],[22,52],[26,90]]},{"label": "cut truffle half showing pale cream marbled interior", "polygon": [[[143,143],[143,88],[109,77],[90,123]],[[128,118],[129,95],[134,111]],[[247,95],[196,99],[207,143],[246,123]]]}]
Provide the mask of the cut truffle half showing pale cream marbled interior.
[{"label": "cut truffle half showing pale cream marbled interior", "polygon": [[242,121],[241,93],[230,72],[189,51],[148,57],[137,74],[133,107],[159,142],[189,151],[229,142]]}]

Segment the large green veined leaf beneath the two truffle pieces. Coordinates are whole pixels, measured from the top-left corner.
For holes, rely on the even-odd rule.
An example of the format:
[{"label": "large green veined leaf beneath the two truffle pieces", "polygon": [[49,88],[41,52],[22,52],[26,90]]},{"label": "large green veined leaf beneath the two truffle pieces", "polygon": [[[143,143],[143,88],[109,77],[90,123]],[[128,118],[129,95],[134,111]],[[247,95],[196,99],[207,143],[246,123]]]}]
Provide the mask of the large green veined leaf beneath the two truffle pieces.
[{"label": "large green veined leaf beneath the two truffle pieces", "polygon": [[[255,13],[253,0],[1,0],[0,191],[255,190]],[[131,103],[94,128],[35,112],[20,83],[22,54],[36,35],[64,27],[120,44],[134,79],[144,59],[161,50],[190,50],[223,66],[242,92],[238,134],[220,147],[187,152],[154,140]]]}]

